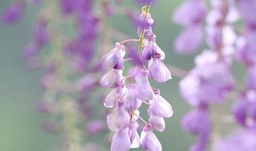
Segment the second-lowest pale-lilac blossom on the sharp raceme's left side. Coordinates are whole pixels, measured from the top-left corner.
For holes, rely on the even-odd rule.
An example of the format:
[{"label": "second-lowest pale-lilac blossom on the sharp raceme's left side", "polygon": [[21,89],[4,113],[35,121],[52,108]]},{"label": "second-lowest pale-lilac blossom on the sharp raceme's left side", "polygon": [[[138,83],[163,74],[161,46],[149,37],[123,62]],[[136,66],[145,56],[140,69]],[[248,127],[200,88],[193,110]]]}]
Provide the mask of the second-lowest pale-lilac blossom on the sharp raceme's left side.
[{"label": "second-lowest pale-lilac blossom on the sharp raceme's left side", "polygon": [[130,115],[124,111],[122,103],[117,104],[116,108],[106,117],[106,122],[111,131],[124,130],[130,123]]}]

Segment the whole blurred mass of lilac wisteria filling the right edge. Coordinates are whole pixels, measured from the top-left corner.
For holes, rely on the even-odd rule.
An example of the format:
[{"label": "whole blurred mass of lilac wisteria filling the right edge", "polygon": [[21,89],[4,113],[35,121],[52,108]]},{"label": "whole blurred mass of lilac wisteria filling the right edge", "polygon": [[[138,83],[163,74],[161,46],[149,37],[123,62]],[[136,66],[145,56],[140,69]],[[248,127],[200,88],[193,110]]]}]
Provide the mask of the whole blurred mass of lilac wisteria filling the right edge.
[{"label": "whole blurred mass of lilac wisteria filling the right edge", "polygon": [[[199,24],[202,24],[207,13],[202,4],[204,4],[203,1],[188,0],[184,2],[175,11],[174,20],[180,24],[188,24],[191,22],[190,20],[200,18]],[[189,71],[188,75],[180,82],[182,96],[188,104],[195,107],[183,117],[181,125],[184,130],[199,136],[199,141],[191,146],[190,150],[207,150],[209,141],[212,142],[212,150],[255,150],[256,143],[253,134],[255,133],[254,102],[256,95],[253,82],[255,77],[254,59],[252,59],[255,57],[255,48],[252,42],[253,36],[255,37],[255,19],[252,14],[255,12],[256,3],[254,1],[214,0],[210,1],[210,5],[211,9],[207,13],[205,27],[209,49],[195,58],[196,67]],[[190,13],[190,10],[195,7],[199,8],[194,13]],[[240,19],[240,15],[244,18],[246,32],[238,37],[241,30],[236,31],[236,22]],[[195,24],[195,22],[193,23]],[[190,26],[194,25],[190,24]],[[194,29],[193,32],[197,32],[197,30]],[[182,33],[178,37],[175,43],[178,53],[193,53],[201,45],[203,31],[199,32],[198,30],[196,34],[191,33]],[[182,47],[183,45],[184,47]],[[246,90],[232,73],[235,59],[243,62],[248,69]],[[222,139],[218,132],[219,122],[223,122],[222,119],[225,117],[222,114],[221,106],[228,96],[232,94],[237,96],[237,93],[241,93],[238,95],[240,101],[234,103],[232,113],[245,130],[235,132]],[[215,106],[212,108],[217,110],[212,113],[212,116],[210,116],[211,106]],[[216,106],[219,109],[216,109]]]}]

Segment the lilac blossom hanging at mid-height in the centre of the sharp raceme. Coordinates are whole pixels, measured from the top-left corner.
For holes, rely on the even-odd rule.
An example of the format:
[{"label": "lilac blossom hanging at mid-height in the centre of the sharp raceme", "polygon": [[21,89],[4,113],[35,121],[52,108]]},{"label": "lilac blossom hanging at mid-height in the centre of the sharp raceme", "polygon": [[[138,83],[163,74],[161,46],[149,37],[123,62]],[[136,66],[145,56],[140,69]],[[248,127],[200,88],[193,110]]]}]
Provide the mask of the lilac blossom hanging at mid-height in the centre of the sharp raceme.
[{"label": "lilac blossom hanging at mid-height in the centre of the sharp raceme", "polygon": [[147,75],[147,70],[141,70],[135,77],[137,83],[135,86],[136,94],[141,100],[150,100],[154,96],[150,82],[148,82]]}]

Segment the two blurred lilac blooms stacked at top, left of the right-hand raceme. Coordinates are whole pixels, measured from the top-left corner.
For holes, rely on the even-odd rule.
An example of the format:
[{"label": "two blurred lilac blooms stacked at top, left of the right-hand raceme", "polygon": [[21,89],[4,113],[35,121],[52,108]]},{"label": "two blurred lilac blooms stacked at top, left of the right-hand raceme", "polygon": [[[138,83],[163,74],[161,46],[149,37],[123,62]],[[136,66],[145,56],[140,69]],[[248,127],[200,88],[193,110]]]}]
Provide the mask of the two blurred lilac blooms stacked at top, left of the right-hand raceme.
[{"label": "two blurred lilac blooms stacked at top, left of the right-hand raceme", "polygon": [[203,44],[202,22],[206,15],[204,0],[187,0],[174,12],[173,19],[185,27],[175,41],[175,51],[179,54],[191,54]]}]

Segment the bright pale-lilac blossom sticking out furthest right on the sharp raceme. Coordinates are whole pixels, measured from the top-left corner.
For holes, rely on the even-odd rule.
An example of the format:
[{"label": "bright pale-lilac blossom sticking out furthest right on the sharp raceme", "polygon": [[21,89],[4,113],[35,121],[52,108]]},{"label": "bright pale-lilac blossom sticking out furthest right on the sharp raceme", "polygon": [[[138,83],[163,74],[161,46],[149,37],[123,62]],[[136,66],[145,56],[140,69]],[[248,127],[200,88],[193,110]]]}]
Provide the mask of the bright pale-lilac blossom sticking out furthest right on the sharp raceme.
[{"label": "bright pale-lilac blossom sticking out furthest right on the sharp raceme", "polygon": [[172,106],[162,97],[160,96],[160,90],[155,90],[155,97],[151,102],[151,114],[168,118],[173,116]]}]

